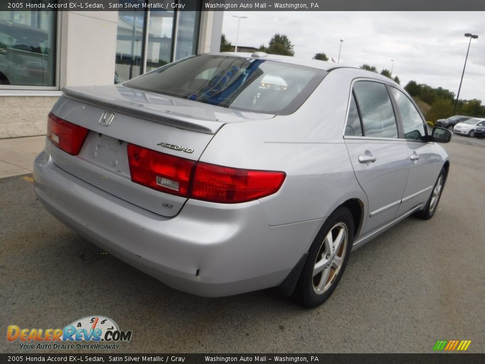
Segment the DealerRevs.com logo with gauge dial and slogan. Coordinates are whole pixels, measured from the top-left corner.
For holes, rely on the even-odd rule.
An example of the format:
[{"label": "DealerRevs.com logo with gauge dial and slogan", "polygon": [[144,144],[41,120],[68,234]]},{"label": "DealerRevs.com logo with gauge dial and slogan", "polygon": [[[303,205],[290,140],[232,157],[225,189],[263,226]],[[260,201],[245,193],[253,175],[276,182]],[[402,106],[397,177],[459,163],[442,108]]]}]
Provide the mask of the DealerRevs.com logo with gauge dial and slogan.
[{"label": "DealerRevs.com logo with gauge dial and slogan", "polygon": [[87,316],[64,329],[21,329],[7,327],[7,340],[19,342],[20,349],[118,349],[120,343],[131,341],[132,331],[120,330],[105,316]]}]

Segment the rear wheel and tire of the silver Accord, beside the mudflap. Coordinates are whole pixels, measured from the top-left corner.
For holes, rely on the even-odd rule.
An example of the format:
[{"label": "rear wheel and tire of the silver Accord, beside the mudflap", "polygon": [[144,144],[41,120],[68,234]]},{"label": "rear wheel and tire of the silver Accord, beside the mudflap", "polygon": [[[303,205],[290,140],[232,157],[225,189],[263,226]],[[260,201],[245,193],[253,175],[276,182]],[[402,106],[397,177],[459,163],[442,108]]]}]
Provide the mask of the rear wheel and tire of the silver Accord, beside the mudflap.
[{"label": "rear wheel and tire of the silver Accord, beside the mudflap", "polygon": [[[353,240],[352,213],[347,207],[341,206],[325,220],[310,247],[293,293],[297,301],[313,308],[330,297],[344,274]],[[319,270],[316,274],[315,267]]]}]

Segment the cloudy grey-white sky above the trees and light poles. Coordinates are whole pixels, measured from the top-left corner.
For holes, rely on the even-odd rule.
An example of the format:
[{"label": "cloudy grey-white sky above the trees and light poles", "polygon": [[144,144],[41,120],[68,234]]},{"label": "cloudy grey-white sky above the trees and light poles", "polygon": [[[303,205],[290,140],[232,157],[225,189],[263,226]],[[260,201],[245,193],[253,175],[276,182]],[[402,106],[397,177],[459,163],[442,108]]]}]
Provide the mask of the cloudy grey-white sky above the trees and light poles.
[{"label": "cloudy grey-white sky above the trees and light poles", "polygon": [[234,44],[237,19],[242,19],[239,45],[267,45],[273,34],[286,34],[295,56],[323,52],[340,63],[391,69],[401,85],[409,80],[458,92],[470,38],[460,99],[485,104],[485,12],[224,12],[222,32]]}]

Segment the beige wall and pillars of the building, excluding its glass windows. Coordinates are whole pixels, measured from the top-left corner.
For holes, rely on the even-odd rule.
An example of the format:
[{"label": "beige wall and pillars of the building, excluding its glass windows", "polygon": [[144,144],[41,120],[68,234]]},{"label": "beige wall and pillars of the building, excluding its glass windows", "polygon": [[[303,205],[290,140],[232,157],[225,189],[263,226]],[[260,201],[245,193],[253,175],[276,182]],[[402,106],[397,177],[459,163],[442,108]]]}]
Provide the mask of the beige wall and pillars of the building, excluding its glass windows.
[{"label": "beige wall and pillars of the building, excluding its glass windows", "polygon": [[[222,12],[203,12],[199,53],[218,52]],[[59,88],[113,84],[118,12],[60,12]],[[61,92],[0,89],[0,139],[46,133]]]}]

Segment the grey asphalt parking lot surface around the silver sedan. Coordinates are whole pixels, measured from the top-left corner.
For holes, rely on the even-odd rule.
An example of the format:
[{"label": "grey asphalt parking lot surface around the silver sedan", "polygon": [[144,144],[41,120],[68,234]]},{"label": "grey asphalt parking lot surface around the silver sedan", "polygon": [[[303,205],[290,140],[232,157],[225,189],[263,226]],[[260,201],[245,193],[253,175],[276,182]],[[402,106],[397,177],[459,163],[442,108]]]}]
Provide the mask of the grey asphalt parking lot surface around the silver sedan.
[{"label": "grey asphalt parking lot surface around the silver sedan", "polygon": [[313,310],[275,289],[209,299],[168,288],[49,215],[30,174],[0,179],[0,350],[25,352],[8,325],[104,315],[133,331],[118,352],[428,353],[437,340],[485,352],[485,140],[454,135],[444,147],[451,170],[434,217],[355,251]]}]

